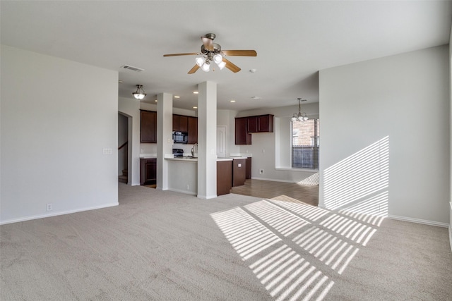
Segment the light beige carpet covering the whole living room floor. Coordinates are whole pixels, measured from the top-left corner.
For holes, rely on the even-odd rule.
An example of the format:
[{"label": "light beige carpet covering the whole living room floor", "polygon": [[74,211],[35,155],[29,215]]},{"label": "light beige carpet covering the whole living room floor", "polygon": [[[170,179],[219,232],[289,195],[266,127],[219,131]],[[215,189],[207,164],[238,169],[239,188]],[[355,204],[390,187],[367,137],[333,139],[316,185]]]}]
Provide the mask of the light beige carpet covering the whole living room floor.
[{"label": "light beige carpet covering the whole living room floor", "polygon": [[119,183],[119,206],[0,226],[1,300],[452,300],[446,228],[290,197]]}]

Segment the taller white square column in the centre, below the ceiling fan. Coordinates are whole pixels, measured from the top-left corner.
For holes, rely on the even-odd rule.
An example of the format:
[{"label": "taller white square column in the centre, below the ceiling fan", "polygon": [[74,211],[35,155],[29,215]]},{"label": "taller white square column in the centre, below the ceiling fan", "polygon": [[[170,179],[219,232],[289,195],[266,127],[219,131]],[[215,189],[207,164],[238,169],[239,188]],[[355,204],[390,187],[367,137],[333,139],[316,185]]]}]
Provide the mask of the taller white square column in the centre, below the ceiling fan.
[{"label": "taller white square column in the centre, below the ceiling fan", "polygon": [[217,197],[217,84],[198,84],[198,197]]}]

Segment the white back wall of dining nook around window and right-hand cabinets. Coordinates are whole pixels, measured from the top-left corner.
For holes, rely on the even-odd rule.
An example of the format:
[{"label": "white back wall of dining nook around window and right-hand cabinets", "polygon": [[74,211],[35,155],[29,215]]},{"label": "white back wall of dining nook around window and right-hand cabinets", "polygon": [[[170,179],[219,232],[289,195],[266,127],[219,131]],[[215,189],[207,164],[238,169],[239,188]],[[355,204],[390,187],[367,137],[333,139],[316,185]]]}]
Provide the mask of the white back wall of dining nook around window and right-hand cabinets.
[{"label": "white back wall of dining nook around window and right-hand cabinets", "polygon": [[[275,116],[273,133],[254,133],[251,134],[251,145],[235,145],[239,149],[238,153],[252,154],[251,178],[297,183],[317,173],[316,171],[290,168],[290,118],[293,113],[298,112],[297,99],[294,99],[294,104],[294,106],[239,111],[236,116],[232,117],[231,143],[234,145],[234,117],[263,114]],[[302,111],[306,112],[309,118],[318,118],[319,103],[302,104]],[[259,173],[259,169],[263,169],[263,174]]]}]

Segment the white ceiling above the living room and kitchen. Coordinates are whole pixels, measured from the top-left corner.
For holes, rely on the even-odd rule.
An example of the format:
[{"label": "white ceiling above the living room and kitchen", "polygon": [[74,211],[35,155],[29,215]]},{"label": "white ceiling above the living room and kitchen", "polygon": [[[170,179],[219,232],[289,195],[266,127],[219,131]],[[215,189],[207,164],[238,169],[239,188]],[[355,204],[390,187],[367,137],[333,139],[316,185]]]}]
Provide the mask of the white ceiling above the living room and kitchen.
[{"label": "white ceiling above the living room and kitchen", "polygon": [[[0,10],[2,44],[117,70],[119,97],[140,84],[142,102],[167,92],[192,109],[198,83],[213,81],[218,109],[237,111],[319,102],[319,70],[448,44],[452,19],[451,1],[2,0]],[[238,73],[193,75],[195,56],[163,57],[200,51],[209,32],[257,56],[228,56]]]}]

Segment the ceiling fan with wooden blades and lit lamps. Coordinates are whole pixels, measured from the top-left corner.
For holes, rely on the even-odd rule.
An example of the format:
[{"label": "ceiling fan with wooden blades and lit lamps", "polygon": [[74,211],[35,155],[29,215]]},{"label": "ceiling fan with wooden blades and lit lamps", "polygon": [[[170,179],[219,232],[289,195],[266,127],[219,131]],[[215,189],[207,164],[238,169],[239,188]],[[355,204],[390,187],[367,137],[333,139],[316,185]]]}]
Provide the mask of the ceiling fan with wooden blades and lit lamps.
[{"label": "ceiling fan with wooden blades and lit lamps", "polygon": [[236,73],[240,68],[231,63],[225,56],[257,56],[255,50],[221,50],[220,44],[214,43],[214,33],[208,33],[205,37],[201,37],[203,44],[201,45],[201,52],[191,52],[188,54],[164,54],[163,56],[198,56],[195,61],[196,65],[189,70],[189,74],[195,73],[199,68],[208,72],[210,70],[210,63],[215,62],[220,70],[228,68]]}]

